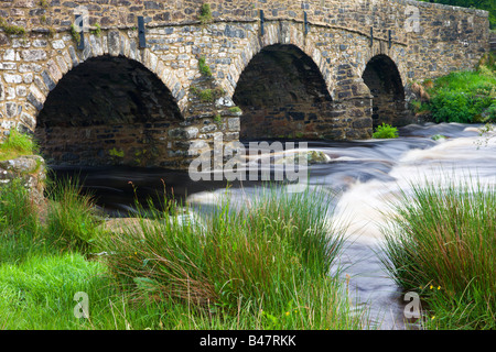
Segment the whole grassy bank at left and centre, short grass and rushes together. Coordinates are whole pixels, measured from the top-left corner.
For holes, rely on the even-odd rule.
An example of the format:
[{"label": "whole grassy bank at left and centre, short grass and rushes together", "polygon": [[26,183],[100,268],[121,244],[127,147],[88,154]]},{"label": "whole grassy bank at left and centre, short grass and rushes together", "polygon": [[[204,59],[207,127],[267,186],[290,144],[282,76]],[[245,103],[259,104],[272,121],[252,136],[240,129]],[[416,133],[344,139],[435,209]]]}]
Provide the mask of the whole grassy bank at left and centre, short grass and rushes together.
[{"label": "whole grassy bank at left and centre, short grass and rushes together", "polygon": [[[328,276],[342,235],[317,194],[225,202],[201,221],[150,202],[122,233],[99,230],[74,180],[52,185],[48,201],[41,221],[22,185],[1,188],[0,329],[366,326]],[[87,255],[94,249],[108,254]],[[89,319],[74,316],[76,292],[89,296]]]}]

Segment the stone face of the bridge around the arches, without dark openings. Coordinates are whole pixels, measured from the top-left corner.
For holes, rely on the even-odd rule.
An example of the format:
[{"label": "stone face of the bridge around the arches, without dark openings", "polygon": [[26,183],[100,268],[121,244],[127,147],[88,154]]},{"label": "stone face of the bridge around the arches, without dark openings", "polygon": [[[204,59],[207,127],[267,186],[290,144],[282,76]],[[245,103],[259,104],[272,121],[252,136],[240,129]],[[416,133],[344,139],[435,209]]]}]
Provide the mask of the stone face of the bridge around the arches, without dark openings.
[{"label": "stone face of the bridge around the arches, without dark openings", "polygon": [[[2,1],[0,16],[26,35],[0,31],[0,132],[14,125],[34,131],[48,94],[72,68],[91,57],[122,56],[157,75],[184,119],[154,130],[169,152],[151,163],[184,167],[192,147],[239,139],[242,117],[233,97],[241,74],[262,48],[289,44],[315,63],[332,98],[328,113],[304,118],[300,135],[364,139],[371,135],[373,96],[362,76],[373,57],[391,58],[408,91],[414,80],[471,69],[489,51],[487,12],[479,10],[402,0],[207,2],[212,20],[201,23],[202,1],[193,0]],[[80,7],[89,25],[84,51],[69,30]],[[138,45],[139,15],[147,48]],[[198,70],[201,57],[211,77]],[[215,99],[200,97],[206,89]]]}]

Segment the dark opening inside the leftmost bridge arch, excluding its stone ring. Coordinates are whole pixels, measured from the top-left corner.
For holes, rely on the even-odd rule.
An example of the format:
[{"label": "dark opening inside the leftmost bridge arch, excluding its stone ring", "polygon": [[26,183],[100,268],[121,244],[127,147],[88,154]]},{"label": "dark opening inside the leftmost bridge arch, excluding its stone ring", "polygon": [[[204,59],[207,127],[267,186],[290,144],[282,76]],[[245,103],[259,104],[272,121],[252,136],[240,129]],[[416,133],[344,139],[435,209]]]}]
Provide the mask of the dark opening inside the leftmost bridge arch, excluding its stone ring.
[{"label": "dark opening inside the leftmost bridge arch, excluding its stone ring", "polygon": [[170,166],[169,131],[182,121],[168,87],[122,56],[89,58],[48,94],[35,139],[51,165]]}]

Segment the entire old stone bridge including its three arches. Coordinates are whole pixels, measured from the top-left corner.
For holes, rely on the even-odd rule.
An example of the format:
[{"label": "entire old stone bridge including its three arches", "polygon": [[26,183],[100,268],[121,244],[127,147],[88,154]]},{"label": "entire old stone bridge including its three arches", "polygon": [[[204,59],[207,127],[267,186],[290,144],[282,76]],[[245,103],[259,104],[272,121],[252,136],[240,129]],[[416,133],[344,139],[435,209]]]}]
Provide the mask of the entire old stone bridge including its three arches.
[{"label": "entire old stone bridge including its three arches", "polygon": [[0,130],[48,163],[184,168],[215,141],[368,139],[473,68],[488,13],[409,0],[0,0]]}]

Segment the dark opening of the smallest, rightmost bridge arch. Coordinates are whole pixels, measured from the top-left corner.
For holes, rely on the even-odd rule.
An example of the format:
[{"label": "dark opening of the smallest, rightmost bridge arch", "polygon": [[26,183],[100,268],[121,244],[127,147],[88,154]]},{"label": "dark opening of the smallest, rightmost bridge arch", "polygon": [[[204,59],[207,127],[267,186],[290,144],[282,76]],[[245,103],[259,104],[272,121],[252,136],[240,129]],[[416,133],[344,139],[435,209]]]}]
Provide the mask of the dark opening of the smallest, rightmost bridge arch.
[{"label": "dark opening of the smallest, rightmost bridge arch", "polygon": [[374,56],[362,75],[373,95],[373,127],[408,124],[405,88],[395,62],[386,55]]}]

